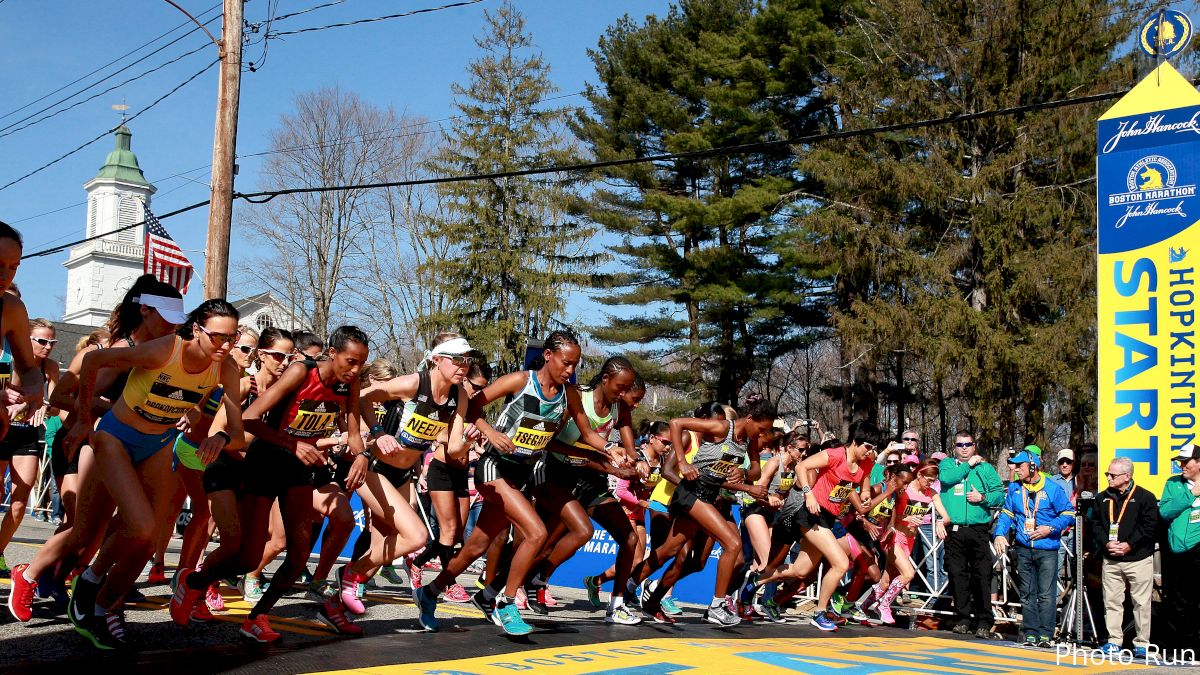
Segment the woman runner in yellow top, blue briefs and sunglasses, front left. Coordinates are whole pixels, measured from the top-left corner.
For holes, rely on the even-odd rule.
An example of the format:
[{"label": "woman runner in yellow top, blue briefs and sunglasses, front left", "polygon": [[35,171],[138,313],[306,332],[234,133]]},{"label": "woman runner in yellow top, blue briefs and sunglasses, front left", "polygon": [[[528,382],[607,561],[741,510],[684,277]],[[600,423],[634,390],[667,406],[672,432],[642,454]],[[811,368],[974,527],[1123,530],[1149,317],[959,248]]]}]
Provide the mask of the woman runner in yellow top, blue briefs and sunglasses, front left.
[{"label": "woman runner in yellow top, blue briefs and sunglasses, front left", "polygon": [[[192,311],[176,335],[128,350],[101,350],[83,359],[79,371],[79,422],[67,436],[67,448],[80,444],[92,426],[91,396],[100,369],[132,369],[121,398],[90,434],[100,484],[116,503],[116,528],[100,555],[76,580],[72,608],[84,615],[77,629],[98,649],[126,645],[122,603],[142,566],[154,551],[154,536],[169,518],[175,492],[170,476],[176,424],[212,388],[235,392],[240,372],[228,359],[238,339],[238,310],[221,299]],[[238,405],[222,396],[226,429],[200,443],[200,456],[211,460],[242,440]],[[233,438],[236,438],[234,441]],[[72,610],[74,614],[76,610]]]}]

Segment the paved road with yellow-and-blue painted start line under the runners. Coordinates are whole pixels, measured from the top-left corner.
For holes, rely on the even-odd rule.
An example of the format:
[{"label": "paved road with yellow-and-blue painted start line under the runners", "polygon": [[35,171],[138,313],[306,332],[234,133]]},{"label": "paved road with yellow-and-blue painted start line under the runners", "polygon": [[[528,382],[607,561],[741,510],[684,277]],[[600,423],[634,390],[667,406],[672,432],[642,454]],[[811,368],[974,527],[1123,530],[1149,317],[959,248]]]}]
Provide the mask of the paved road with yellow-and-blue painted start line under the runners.
[{"label": "paved road with yellow-and-blue painted start line under the runners", "polygon": [[[8,565],[28,562],[49,526],[26,521],[6,554]],[[178,544],[173,542],[173,544]],[[174,551],[172,551],[174,554]],[[173,555],[168,556],[172,562]],[[7,597],[7,581],[2,592]],[[0,620],[0,670],[8,673],[1056,673],[1070,665],[1052,651],[1022,650],[1002,641],[958,640],[950,633],[853,627],[823,634],[806,625],[739,626],[720,629],[689,608],[683,623],[607,626],[582,595],[556,590],[564,607],[533,617],[538,631],[509,638],[470,605],[444,603],[442,632],[416,625],[407,589],[384,586],[367,595],[359,619],[365,638],[347,640],[316,620],[316,605],[296,592],[275,609],[271,625],[284,634],[276,645],[247,644],[236,627],[250,607],[224,589],[227,610],[215,623],[180,628],[166,613],[168,587],[138,584],[148,602],[128,607],[126,619],[137,651],[100,653],[77,635],[49,603],[35,605],[25,625],[7,613]],[[1080,663],[1078,671],[1132,671],[1127,667]],[[1162,670],[1156,668],[1154,670]],[[1145,673],[1145,667],[1138,669]],[[1171,668],[1200,675],[1200,668]]]}]

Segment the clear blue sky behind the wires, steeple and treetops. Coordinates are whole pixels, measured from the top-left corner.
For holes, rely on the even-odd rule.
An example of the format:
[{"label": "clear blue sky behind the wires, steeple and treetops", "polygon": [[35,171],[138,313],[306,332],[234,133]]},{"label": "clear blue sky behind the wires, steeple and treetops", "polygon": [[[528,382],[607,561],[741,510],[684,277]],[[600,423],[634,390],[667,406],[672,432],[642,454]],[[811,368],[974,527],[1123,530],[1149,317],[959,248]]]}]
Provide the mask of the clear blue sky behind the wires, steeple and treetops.
[{"label": "clear blue sky behind the wires, steeple and treetops", "polygon": [[[216,16],[217,0],[176,0],[191,13]],[[278,14],[323,5],[328,0],[282,0]],[[356,26],[323,30],[272,40],[264,66],[242,77],[238,151],[250,155],[268,149],[268,136],[281,114],[288,113],[295,94],[337,84],[379,106],[438,120],[455,114],[450,84],[464,82],[466,66],[476,56],[473,37],[481,31],[485,10],[499,0],[407,18]],[[440,0],[346,0],[275,24],[275,30],[326,25],[344,20],[432,7]],[[246,4],[246,18],[266,18],[268,0]],[[662,14],[666,0],[518,0],[528,30],[547,58],[559,95],[583,89],[594,82],[587,49],[594,47],[605,29],[624,14],[637,19]],[[208,12],[208,13],[205,13]],[[202,47],[208,38],[199,31],[186,36],[162,52],[146,54],[180,37],[176,30],[150,47],[122,59],[95,76],[65,89],[40,103],[20,107],[59,89],[76,78],[116,59],[131,49],[180,26],[186,18],[162,0],[55,1],[0,0],[0,135],[20,126],[22,118],[96,80],[103,84],[36,115],[78,102],[113,84],[152,68],[175,56]],[[220,22],[211,24],[218,32]],[[258,61],[262,44],[246,49],[247,61]],[[139,58],[130,70],[104,79],[106,74]],[[0,185],[67,153],[98,136],[118,121],[112,110],[122,100],[137,113],[156,98],[216,59],[216,47],[200,49],[175,64],[137,82],[84,102],[29,129],[0,136]],[[199,76],[154,109],[130,123],[133,150],[146,178],[158,192],[154,196],[156,213],[206,199],[209,165],[212,161],[212,125],[216,98],[216,68]],[[563,98],[560,104],[582,103],[580,96]],[[19,110],[18,110],[19,109]],[[34,120],[29,120],[34,121]],[[0,190],[0,220],[14,225],[25,237],[25,251],[32,252],[83,237],[85,192],[91,179],[113,147],[110,137],[28,178]],[[238,189],[257,190],[259,159],[240,160]],[[234,205],[234,243],[232,258],[245,253],[247,244],[238,234],[239,211]],[[164,221],[192,262],[202,268],[206,209],[197,209]],[[28,259],[17,281],[30,316],[59,319],[66,288],[67,253]],[[203,273],[198,271],[198,279]],[[238,295],[238,293],[232,293]],[[202,298],[200,285],[193,282],[187,304]],[[569,318],[577,318],[592,307],[582,294],[569,303]]]}]

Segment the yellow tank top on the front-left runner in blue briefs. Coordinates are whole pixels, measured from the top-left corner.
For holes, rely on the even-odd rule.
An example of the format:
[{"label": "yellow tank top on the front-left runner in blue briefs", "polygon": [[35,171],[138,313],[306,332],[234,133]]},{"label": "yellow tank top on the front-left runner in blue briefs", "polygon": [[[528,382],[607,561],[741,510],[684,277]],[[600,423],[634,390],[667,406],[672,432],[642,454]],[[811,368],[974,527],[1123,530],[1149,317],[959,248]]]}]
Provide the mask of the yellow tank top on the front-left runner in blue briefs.
[{"label": "yellow tank top on the front-left runner in blue briefs", "polygon": [[157,370],[134,368],[125,382],[121,399],[138,417],[152,424],[175,424],[204,400],[221,377],[221,364],[200,372],[184,370],[184,339],[175,336],[170,359]]}]

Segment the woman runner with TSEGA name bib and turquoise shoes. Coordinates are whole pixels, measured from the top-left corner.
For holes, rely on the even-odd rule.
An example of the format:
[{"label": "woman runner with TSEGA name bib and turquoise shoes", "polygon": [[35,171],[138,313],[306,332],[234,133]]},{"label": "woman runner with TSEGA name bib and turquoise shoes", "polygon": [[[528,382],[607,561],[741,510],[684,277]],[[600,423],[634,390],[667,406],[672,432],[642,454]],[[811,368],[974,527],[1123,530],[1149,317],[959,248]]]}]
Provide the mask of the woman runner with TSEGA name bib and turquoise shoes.
[{"label": "woman runner with TSEGA name bib and turquoise shoes", "polygon": [[[434,616],[438,596],[474,562],[497,537],[516,527],[521,543],[511,558],[504,592],[496,597],[492,620],[511,635],[533,631],[512,604],[516,592],[546,542],[546,526],[538,518],[521,488],[529,480],[538,456],[550,444],[564,418],[575,418],[584,443],[602,448],[605,442],[592,431],[578,404],[566,398],[566,383],[580,363],[580,344],[570,333],[556,330],[544,344],[540,368],[505,375],[488,384],[473,401],[473,420],[487,438],[488,450],[479,460],[475,483],[484,496],[484,509],[470,539],[430,584],[416,589],[413,599],[420,610],[420,623],[437,631]],[[482,418],[482,406],[511,396],[500,412],[496,428]]]}]

